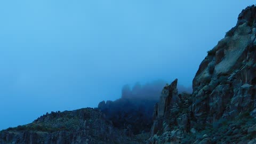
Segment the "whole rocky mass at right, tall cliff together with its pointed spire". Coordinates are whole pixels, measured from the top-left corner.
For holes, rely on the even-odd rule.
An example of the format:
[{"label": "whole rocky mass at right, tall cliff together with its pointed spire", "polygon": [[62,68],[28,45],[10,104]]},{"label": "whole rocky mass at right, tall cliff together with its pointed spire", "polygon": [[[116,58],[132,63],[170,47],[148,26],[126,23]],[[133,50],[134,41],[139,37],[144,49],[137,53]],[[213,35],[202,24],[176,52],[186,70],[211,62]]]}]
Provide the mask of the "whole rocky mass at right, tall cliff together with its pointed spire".
[{"label": "whole rocky mass at right, tall cliff together with its pointed spire", "polygon": [[193,80],[193,94],[177,99],[177,80],[164,88],[148,143],[255,142],[255,39],[253,5],[208,52]]}]

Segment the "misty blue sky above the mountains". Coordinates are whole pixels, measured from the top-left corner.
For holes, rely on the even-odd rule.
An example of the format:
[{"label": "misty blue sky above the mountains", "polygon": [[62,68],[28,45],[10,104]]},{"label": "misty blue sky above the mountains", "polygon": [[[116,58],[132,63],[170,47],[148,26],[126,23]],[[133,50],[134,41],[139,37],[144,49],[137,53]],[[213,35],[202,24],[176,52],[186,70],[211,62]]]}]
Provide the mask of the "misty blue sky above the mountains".
[{"label": "misty blue sky above the mountains", "polygon": [[123,85],[191,86],[206,52],[252,1],[0,2],[0,130],[97,107]]}]

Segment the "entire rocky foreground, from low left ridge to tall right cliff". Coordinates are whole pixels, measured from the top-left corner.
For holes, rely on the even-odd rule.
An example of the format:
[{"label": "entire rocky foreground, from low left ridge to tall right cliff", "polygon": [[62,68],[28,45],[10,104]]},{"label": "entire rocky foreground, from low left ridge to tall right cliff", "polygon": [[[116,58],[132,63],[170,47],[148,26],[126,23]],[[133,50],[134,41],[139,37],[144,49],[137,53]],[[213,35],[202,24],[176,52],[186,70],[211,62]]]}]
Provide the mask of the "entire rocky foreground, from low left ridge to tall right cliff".
[{"label": "entire rocky foreground, from low left ridge to tall right cliff", "polygon": [[[256,143],[255,20],[255,5],[238,15],[237,25],[199,65],[192,94],[178,93],[178,79],[164,86],[153,108],[150,132],[134,134],[132,123],[115,127],[103,110],[104,102],[99,108],[57,111],[31,124],[3,130],[0,144]],[[121,120],[130,121],[129,116]]]}]

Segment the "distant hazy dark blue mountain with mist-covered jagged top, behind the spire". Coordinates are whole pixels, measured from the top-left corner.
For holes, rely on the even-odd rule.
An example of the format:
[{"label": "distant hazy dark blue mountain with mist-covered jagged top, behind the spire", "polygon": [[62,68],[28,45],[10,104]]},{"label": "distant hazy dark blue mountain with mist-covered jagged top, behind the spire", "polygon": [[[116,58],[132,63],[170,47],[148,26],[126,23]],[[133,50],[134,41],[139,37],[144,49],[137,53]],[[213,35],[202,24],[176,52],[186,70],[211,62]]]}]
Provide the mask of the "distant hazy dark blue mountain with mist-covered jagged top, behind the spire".
[{"label": "distant hazy dark blue mountain with mist-covered jagged top, behind the spire", "polygon": [[166,82],[158,80],[145,85],[136,83],[132,89],[125,85],[121,99],[102,101],[98,108],[118,129],[125,129],[131,135],[149,132],[153,124],[154,105],[165,84]]}]

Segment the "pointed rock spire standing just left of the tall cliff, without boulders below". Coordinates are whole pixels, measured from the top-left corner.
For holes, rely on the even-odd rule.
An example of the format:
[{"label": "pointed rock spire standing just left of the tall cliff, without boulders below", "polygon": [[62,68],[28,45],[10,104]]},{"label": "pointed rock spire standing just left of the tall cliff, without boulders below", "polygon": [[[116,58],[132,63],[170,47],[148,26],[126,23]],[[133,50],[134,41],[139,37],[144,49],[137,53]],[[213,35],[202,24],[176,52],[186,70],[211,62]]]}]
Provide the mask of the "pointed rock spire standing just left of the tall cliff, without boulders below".
[{"label": "pointed rock spire standing just left of the tall cliff, without boulders below", "polygon": [[155,105],[154,124],[151,129],[152,136],[159,131],[170,131],[170,125],[180,125],[182,130],[187,130],[188,117],[187,115],[180,115],[181,111],[179,109],[188,109],[189,100],[187,96],[189,94],[178,95],[177,82],[178,79],[175,79],[170,85],[164,87],[159,102]]}]

